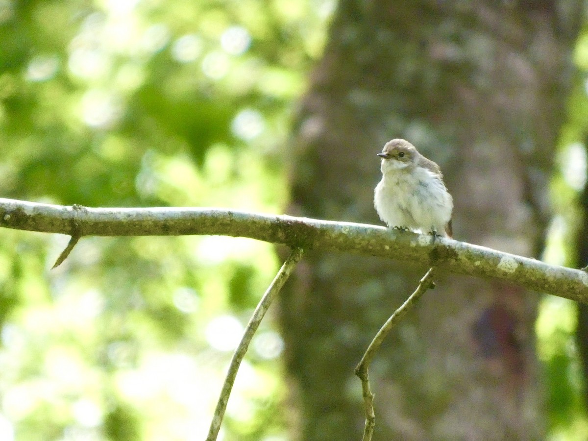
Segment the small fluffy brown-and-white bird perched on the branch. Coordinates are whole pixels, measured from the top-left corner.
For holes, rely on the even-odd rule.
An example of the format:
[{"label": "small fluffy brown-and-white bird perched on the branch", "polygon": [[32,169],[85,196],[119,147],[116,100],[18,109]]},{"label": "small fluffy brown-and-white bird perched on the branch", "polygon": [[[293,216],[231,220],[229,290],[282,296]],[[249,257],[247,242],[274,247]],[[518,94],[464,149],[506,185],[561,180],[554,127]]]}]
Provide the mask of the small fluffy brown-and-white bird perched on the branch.
[{"label": "small fluffy brown-and-white bird perched on the branch", "polygon": [[377,156],[382,158],[382,180],[374,206],[388,228],[452,238],[453,198],[439,165],[406,139],[392,139]]}]

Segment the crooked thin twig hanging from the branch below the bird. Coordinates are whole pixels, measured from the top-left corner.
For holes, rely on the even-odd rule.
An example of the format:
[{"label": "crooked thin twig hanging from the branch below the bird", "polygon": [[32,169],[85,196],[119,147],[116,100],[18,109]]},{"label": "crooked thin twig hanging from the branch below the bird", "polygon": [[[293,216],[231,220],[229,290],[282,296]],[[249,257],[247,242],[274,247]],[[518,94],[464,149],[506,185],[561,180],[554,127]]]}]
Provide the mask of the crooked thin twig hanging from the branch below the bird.
[{"label": "crooked thin twig hanging from the branch below the bird", "polygon": [[428,290],[435,288],[435,283],[430,281],[433,276],[433,268],[429,269],[427,273],[420,279],[419,286],[417,286],[415,292],[413,292],[409,298],[396,309],[395,312],[386,320],[386,323],[380,328],[376,336],[373,338],[372,343],[369,344],[368,349],[358,366],[355,368],[355,375],[362,381],[362,392],[363,392],[363,407],[366,413],[366,423],[363,429],[362,441],[370,441],[372,439],[373,428],[376,425],[376,414],[373,411],[373,393],[369,385],[369,365],[372,362],[373,357],[376,355],[377,349],[386,338],[386,335],[396,325],[397,322],[415,305],[417,300]]}]

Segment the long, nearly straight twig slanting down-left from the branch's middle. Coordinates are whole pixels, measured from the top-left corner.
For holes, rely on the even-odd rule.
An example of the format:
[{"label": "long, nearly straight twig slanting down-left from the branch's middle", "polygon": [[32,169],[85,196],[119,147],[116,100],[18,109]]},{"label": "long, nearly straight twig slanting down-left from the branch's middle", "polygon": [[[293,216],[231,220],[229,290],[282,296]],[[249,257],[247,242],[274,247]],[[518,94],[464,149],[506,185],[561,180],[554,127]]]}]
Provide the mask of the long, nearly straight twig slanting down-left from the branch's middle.
[{"label": "long, nearly straight twig slanting down-left from the branch's middle", "polygon": [[247,327],[245,328],[243,337],[239,342],[239,346],[235,349],[233,358],[230,360],[229,370],[226,374],[225,383],[223,383],[218,403],[216,403],[215,413],[212,416],[211,427],[208,430],[206,441],[216,440],[220,430],[220,424],[225,415],[226,405],[229,402],[230,391],[233,388],[233,383],[235,383],[235,377],[239,370],[239,365],[247,352],[253,334],[255,334],[255,331],[258,329],[259,323],[261,323],[261,320],[271,305],[272,300],[275,299],[276,295],[280,292],[280,289],[282,289],[282,286],[284,286],[284,283],[286,283],[286,280],[288,280],[288,277],[292,274],[292,271],[296,267],[296,263],[302,258],[303,254],[304,250],[302,248],[294,248],[292,250],[288,259],[286,259],[286,262],[284,262],[282,268],[280,268],[278,274],[276,274],[276,277],[272,280],[271,285],[269,285],[265,294],[261,300],[259,300],[258,306],[255,308],[249,323],[247,323]]}]

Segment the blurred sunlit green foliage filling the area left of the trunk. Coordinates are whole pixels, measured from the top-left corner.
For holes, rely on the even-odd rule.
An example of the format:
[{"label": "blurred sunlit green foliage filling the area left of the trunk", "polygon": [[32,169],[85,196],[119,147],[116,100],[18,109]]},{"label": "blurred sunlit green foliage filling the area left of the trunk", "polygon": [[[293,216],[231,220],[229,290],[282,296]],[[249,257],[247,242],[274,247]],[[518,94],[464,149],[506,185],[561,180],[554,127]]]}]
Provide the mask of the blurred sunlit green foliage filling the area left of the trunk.
[{"label": "blurred sunlit green foliage filling the area left of the trunk", "polygon": [[[329,2],[0,0],[0,189],[87,206],[280,212],[293,100]],[[203,439],[278,268],[233,238],[2,231],[0,439]],[[262,325],[225,439],[283,431]]]}]

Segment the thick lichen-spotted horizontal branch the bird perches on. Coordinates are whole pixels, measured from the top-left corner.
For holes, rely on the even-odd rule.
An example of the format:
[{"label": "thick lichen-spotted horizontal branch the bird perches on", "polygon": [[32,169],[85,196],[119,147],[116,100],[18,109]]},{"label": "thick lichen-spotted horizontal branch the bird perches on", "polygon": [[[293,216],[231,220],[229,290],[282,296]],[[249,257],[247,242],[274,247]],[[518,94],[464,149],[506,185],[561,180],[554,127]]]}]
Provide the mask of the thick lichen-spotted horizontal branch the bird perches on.
[{"label": "thick lichen-spotted horizontal branch the bird perches on", "polygon": [[[76,228],[72,226],[75,219]],[[245,236],[291,247],[410,260],[588,303],[588,274],[483,246],[382,226],[214,208],[78,208],[0,199],[0,226],[70,236]]]}]

